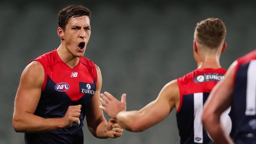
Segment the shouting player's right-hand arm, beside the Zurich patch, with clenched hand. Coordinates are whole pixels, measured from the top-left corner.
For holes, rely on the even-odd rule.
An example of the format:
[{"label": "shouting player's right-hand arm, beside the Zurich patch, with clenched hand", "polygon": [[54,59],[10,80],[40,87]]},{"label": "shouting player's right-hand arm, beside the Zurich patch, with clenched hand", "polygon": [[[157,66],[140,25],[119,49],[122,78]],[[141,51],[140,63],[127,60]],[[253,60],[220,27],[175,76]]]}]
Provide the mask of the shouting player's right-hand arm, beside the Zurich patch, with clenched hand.
[{"label": "shouting player's right-hand arm, beside the Zurich patch, with clenched hand", "polygon": [[[95,65],[96,66],[96,65]],[[86,109],[86,121],[89,131],[97,138],[117,138],[122,135],[123,129],[113,118],[106,121],[103,112],[98,107],[100,103],[100,90],[102,87],[102,76],[100,68],[96,66],[97,70],[97,86],[95,94]]]}]

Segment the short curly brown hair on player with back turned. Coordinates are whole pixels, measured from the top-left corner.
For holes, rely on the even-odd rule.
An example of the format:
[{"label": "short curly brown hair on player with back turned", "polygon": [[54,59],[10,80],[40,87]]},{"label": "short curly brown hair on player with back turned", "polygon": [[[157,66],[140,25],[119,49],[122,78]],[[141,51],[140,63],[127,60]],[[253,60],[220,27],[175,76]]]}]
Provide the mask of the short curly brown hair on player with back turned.
[{"label": "short curly brown hair on player with back turned", "polygon": [[219,18],[208,18],[197,23],[195,28],[200,43],[217,48],[226,37],[226,26]]}]

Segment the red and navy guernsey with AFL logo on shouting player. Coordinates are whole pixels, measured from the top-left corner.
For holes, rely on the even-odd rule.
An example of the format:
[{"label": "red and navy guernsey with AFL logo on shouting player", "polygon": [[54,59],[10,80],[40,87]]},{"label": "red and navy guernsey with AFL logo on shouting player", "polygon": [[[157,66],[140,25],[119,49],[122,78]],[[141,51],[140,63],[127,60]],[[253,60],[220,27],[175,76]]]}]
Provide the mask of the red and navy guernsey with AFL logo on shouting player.
[{"label": "red and navy guernsey with AFL logo on shouting player", "polygon": [[70,105],[82,105],[80,124],[49,132],[25,133],[26,144],[83,144],[83,120],[86,105],[96,90],[95,64],[85,57],[70,68],[59,57],[56,49],[41,55],[38,61],[44,68],[45,80],[35,115],[43,118],[61,118]]}]

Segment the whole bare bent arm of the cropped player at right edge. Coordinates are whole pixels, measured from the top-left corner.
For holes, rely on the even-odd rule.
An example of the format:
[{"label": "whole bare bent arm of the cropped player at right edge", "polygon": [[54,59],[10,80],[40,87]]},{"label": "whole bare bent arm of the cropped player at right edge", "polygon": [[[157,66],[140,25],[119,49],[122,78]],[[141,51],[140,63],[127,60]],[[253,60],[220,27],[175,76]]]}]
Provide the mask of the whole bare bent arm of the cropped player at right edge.
[{"label": "whole bare bent arm of the cropped player at right edge", "polygon": [[232,102],[233,78],[237,62],[228,69],[225,78],[217,83],[204,105],[202,123],[216,144],[234,144],[220,122],[220,116]]}]

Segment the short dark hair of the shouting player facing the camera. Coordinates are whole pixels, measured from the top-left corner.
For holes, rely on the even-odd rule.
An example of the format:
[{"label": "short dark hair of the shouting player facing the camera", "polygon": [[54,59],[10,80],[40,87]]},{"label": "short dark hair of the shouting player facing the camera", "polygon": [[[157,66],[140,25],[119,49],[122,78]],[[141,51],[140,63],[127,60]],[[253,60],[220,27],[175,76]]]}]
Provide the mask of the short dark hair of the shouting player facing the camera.
[{"label": "short dark hair of the shouting player facing the camera", "polygon": [[91,18],[91,11],[84,6],[71,5],[61,9],[58,13],[59,27],[65,31],[66,25],[71,18],[87,15]]}]

